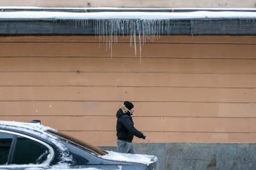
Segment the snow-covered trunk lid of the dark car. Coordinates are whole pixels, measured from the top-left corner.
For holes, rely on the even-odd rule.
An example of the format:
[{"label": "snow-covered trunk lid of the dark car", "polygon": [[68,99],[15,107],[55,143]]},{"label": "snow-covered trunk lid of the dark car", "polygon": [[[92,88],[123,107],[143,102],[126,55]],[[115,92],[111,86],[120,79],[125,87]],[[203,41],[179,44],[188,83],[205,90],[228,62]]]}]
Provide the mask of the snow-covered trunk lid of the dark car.
[{"label": "snow-covered trunk lid of the dark car", "polygon": [[108,159],[108,160],[143,163],[146,165],[150,165],[151,163],[157,162],[157,157],[153,155],[117,153],[114,151],[107,151],[107,152],[108,154],[104,156],[99,156],[99,157],[102,157],[103,159]]}]

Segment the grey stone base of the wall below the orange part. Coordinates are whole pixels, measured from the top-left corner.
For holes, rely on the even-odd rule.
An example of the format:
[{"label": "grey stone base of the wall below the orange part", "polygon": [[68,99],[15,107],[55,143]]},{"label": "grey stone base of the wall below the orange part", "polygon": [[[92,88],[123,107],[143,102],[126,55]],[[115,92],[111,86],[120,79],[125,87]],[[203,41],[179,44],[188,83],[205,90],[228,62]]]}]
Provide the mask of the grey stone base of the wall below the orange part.
[{"label": "grey stone base of the wall below the orange part", "polygon": [[[102,147],[116,151],[116,147]],[[135,144],[138,154],[153,154],[164,169],[256,169],[256,144],[150,143]]]}]

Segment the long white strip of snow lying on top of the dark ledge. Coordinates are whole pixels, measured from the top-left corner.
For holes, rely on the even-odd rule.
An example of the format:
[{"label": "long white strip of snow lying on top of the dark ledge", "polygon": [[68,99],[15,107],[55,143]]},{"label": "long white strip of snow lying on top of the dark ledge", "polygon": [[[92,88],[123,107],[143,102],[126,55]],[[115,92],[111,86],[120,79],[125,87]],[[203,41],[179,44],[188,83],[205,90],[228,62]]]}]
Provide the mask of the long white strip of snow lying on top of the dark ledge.
[{"label": "long white strip of snow lying on top of the dark ledge", "polygon": [[246,11],[194,11],[168,12],[97,12],[71,13],[58,11],[11,11],[0,12],[0,20],[101,20],[101,19],[256,19],[256,12]]}]

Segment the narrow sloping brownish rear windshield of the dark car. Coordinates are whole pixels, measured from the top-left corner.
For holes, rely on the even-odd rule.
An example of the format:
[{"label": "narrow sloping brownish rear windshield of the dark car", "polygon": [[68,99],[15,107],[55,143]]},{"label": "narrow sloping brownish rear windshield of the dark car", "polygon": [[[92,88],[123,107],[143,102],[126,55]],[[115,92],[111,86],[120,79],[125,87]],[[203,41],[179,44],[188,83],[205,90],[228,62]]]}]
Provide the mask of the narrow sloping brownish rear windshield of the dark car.
[{"label": "narrow sloping brownish rear windshield of the dark car", "polygon": [[81,141],[79,139],[76,139],[74,138],[73,136],[70,136],[70,135],[67,135],[65,133],[62,133],[62,132],[54,132],[52,130],[47,130],[48,133],[51,133],[53,135],[56,135],[56,136],[59,136],[60,138],[66,140],[66,141],[69,141],[69,142],[72,142],[73,144],[75,145],[79,145],[81,147],[85,147],[87,148],[88,150],[91,150],[93,151],[94,153],[97,153],[97,154],[100,154],[100,155],[105,155],[107,154],[106,151],[102,150],[101,148],[99,147],[96,147],[92,144],[88,144],[87,142],[84,142],[84,141]]}]

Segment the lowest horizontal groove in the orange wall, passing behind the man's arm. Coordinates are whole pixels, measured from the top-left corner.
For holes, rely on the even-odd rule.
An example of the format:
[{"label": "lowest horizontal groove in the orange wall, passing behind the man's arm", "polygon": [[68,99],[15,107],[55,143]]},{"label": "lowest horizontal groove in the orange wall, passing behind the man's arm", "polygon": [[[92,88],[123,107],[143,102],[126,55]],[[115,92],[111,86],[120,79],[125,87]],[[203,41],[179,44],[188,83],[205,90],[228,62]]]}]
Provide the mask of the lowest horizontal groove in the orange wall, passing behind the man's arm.
[{"label": "lowest horizontal groove in the orange wall, passing behind the man's arm", "polygon": [[[115,130],[58,130],[59,132],[117,132]],[[253,133],[256,132],[191,132],[191,131],[145,131],[141,130],[142,132],[162,132],[162,133]]]}]

